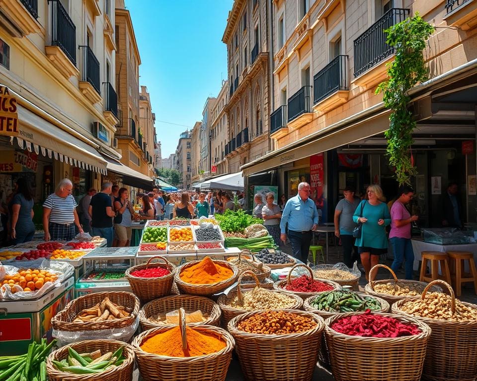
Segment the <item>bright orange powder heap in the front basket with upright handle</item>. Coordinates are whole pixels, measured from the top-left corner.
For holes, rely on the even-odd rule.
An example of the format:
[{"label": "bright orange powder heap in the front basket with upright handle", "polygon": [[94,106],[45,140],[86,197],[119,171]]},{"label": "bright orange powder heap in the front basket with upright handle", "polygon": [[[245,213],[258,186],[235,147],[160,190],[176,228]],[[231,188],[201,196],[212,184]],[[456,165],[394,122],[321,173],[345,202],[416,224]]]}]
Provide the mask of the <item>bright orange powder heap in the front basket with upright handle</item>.
[{"label": "bright orange powder heap in the front basket with upright handle", "polygon": [[148,353],[169,357],[195,357],[210,355],[224,349],[226,344],[221,337],[213,333],[198,331],[186,327],[187,349],[182,350],[182,338],[179,326],[150,337],[141,345],[141,349]]}]

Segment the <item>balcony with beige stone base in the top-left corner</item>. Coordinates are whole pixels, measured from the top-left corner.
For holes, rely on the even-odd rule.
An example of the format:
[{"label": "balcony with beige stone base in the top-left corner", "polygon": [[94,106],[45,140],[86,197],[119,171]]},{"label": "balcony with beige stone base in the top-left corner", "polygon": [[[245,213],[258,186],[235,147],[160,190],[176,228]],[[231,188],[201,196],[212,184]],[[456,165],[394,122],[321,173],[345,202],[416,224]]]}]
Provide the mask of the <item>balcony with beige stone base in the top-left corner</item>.
[{"label": "balcony with beige stone base in the top-left corner", "polygon": [[44,32],[37,21],[38,0],[1,0],[6,28],[15,36]]}]

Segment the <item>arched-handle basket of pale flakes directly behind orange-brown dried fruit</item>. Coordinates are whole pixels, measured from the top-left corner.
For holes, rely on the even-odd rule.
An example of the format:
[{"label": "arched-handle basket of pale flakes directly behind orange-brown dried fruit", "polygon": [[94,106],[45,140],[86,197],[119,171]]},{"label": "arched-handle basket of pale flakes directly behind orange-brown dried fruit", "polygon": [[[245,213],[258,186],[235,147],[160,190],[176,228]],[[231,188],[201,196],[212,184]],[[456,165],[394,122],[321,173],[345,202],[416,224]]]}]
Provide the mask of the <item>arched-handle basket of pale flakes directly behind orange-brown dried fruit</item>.
[{"label": "arched-handle basket of pale flakes directly behind orange-brown dried fruit", "polygon": [[[255,280],[254,289],[243,292],[241,281],[244,277],[252,277]],[[217,303],[224,313],[224,325],[227,326],[230,320],[248,311],[300,310],[303,300],[299,296],[284,290],[261,288],[256,275],[246,270],[239,275],[237,291],[229,295],[222,295]]]}]

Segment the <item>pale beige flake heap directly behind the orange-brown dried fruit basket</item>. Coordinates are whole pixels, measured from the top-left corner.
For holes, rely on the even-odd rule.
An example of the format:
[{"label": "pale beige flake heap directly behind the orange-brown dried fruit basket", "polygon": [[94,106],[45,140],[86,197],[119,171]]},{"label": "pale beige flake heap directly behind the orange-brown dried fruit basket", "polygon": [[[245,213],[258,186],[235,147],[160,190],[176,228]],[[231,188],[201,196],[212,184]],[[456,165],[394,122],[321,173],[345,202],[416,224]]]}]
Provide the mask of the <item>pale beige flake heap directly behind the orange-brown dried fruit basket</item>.
[{"label": "pale beige flake heap directly behind the orange-brown dried fruit basket", "polygon": [[295,300],[280,292],[265,290],[255,287],[252,291],[243,292],[243,303],[239,301],[239,295],[235,292],[224,299],[224,304],[232,308],[246,311],[258,310],[285,310],[292,308]]}]

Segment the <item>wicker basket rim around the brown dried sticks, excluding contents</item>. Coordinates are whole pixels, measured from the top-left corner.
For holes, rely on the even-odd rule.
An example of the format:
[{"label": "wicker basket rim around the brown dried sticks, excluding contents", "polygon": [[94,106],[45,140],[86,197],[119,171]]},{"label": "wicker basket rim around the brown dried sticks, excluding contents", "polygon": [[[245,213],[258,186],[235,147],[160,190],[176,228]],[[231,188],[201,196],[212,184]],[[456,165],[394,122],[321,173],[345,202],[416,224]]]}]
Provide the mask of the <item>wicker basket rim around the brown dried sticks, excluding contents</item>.
[{"label": "wicker basket rim around the brown dried sticks, excluding contents", "polygon": [[[97,303],[101,303],[106,297],[117,305],[132,309],[133,312],[131,313],[131,316],[128,318],[103,320],[99,322],[73,322],[82,310],[93,307]],[[54,329],[60,331],[94,331],[100,329],[123,328],[132,325],[136,321],[138,315],[139,299],[134,294],[126,291],[95,292],[72,300],[61,312],[51,319],[51,324]]]}]

